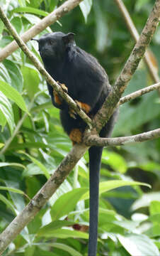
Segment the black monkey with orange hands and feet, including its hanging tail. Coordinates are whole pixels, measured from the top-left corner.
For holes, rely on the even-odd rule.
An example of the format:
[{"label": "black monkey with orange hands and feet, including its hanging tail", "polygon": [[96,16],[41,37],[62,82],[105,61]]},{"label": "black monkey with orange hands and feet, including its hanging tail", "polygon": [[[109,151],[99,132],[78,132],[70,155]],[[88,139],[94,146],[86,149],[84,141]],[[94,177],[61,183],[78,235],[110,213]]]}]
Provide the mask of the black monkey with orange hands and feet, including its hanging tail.
[{"label": "black monkey with orange hands and feet, including its hanging tail", "polygon": [[[89,117],[93,116],[103,105],[111,90],[108,75],[96,58],[76,46],[74,33],[47,33],[38,41],[40,56],[48,73],[60,82],[69,96],[81,107]],[[47,84],[52,104],[60,109],[60,118],[64,131],[73,144],[81,143],[86,128],[84,121],[69,110],[64,100]],[[115,115],[101,130],[101,137],[110,137]],[[98,187],[103,147],[91,146],[89,149],[90,172],[90,220],[88,256],[96,256],[98,229]]]}]

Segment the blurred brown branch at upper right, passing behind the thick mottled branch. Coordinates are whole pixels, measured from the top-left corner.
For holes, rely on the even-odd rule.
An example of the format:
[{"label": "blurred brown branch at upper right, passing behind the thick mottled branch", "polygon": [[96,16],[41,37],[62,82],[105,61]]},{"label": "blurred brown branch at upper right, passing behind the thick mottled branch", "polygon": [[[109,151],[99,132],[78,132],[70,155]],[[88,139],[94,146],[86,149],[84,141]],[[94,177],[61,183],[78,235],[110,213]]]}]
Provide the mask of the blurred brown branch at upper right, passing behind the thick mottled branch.
[{"label": "blurred brown branch at upper right, passing behind the thick mottled branch", "polygon": [[[130,14],[125,7],[125,4],[123,4],[122,0],[115,0],[115,3],[117,4],[118,9],[120,10],[123,18],[125,19],[128,30],[130,31],[132,37],[135,39],[135,42],[137,43],[137,41],[139,40],[139,33],[137,31],[137,28],[135,27],[135,24],[132,21],[132,18],[130,17]],[[157,73],[157,70],[155,70],[152,64],[152,60],[150,58],[151,54],[153,53],[151,53],[150,50],[146,50],[144,54],[144,61],[147,64],[147,68],[154,82],[159,82],[159,75]]]}]

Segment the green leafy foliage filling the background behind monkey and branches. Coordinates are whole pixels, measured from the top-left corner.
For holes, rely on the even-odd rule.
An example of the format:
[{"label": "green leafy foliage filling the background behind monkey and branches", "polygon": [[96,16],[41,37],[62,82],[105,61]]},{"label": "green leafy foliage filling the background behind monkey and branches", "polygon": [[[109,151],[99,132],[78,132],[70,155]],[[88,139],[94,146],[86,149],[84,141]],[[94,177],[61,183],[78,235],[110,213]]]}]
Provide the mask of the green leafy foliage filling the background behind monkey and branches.
[{"label": "green leafy foliage filling the background behind monkey and branches", "polygon": [[[62,4],[59,0],[1,0],[21,35]],[[154,1],[124,1],[139,33]],[[114,1],[85,0],[59,22],[45,29],[72,31],[76,43],[98,58],[114,83],[134,41]],[[160,62],[160,28],[151,44],[155,68]],[[38,37],[40,36],[38,35]],[[13,40],[0,21],[0,48]],[[35,41],[27,43],[38,56]],[[142,62],[125,92],[153,83]],[[159,95],[151,92],[120,107],[113,136],[156,129]],[[18,49],[0,63],[0,230],[23,210],[72,148],[52,107],[46,82]],[[4,146],[5,145],[5,146]],[[160,140],[103,151],[98,255],[159,255]],[[135,181],[148,183],[138,186]],[[113,189],[114,188],[114,189]],[[87,255],[88,154],[4,255]]]}]

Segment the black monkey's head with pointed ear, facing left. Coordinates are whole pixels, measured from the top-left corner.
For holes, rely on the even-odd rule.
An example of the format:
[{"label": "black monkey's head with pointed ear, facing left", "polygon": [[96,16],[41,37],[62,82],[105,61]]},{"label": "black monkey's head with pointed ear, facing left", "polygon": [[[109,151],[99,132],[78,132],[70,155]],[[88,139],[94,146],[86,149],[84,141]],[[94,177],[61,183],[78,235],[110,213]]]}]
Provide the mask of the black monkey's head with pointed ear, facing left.
[{"label": "black monkey's head with pointed ear, facing left", "polygon": [[40,56],[42,60],[62,60],[66,51],[75,46],[74,33],[64,34],[62,32],[47,33],[38,41]]}]

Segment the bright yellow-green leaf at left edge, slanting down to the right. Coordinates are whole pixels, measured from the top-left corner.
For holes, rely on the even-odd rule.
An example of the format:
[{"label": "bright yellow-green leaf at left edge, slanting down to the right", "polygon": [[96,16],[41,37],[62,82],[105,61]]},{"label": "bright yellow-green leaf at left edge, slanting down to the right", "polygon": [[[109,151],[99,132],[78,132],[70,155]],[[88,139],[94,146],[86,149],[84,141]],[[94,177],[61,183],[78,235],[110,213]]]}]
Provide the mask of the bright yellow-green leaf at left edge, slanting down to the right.
[{"label": "bright yellow-green leaf at left edge, slanting down to the right", "polygon": [[8,97],[8,99],[13,100],[13,102],[15,102],[18,105],[18,107],[21,108],[21,110],[28,112],[23,97],[16,89],[11,87],[11,85],[8,85],[7,82],[3,82],[0,80],[0,91],[3,92],[4,95]]}]

